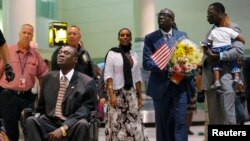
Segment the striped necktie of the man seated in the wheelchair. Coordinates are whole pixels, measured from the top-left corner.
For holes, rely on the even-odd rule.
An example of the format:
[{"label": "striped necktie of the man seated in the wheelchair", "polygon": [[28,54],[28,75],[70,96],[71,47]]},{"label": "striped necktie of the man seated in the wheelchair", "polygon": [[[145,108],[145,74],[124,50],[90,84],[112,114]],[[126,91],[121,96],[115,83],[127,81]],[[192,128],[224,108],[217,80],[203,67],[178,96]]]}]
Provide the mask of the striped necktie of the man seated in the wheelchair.
[{"label": "striped necktie of the man seated in the wheelchair", "polygon": [[65,95],[66,92],[66,88],[67,88],[67,78],[66,76],[62,76],[61,80],[60,80],[60,88],[58,91],[58,96],[57,96],[57,101],[56,101],[56,108],[55,108],[55,117],[58,117],[62,120],[65,120],[66,118],[62,115],[62,101],[63,101],[63,97]]}]

